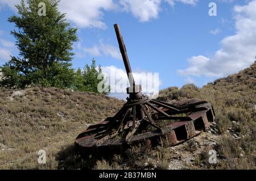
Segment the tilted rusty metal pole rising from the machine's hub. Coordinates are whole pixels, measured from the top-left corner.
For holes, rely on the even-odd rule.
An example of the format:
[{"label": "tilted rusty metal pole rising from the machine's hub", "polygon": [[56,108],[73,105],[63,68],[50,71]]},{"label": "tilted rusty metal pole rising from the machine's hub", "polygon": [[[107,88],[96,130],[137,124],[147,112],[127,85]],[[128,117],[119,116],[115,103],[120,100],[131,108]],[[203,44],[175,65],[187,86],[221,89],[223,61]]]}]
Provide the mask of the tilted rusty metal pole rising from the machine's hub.
[{"label": "tilted rusty metal pole rising from the machine's hub", "polygon": [[127,56],[125,43],[123,43],[123,37],[121,35],[121,31],[120,31],[120,28],[119,28],[118,24],[114,24],[114,28],[115,28],[115,34],[117,35],[119,49],[120,49],[120,52],[122,54],[123,63],[125,64],[127,77],[129,78],[130,86],[133,86],[133,85],[135,85],[135,82],[134,82],[134,78],[133,78],[133,73],[131,71],[129,58]]}]

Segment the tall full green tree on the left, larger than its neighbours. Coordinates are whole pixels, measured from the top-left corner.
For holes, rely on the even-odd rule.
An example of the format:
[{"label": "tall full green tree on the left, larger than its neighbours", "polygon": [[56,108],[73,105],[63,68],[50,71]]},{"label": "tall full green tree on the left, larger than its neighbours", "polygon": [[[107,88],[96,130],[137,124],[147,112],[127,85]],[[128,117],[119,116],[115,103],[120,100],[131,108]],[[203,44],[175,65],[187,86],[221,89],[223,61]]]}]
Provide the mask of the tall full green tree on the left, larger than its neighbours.
[{"label": "tall full green tree on the left, larger than its neighbours", "polygon": [[[45,3],[46,16],[40,16],[39,3]],[[1,86],[24,87],[31,84],[69,87],[75,72],[72,45],[77,41],[77,29],[70,27],[65,14],[57,9],[58,0],[24,0],[16,5],[18,15],[9,18],[18,31],[16,39],[19,56],[2,66]]]}]

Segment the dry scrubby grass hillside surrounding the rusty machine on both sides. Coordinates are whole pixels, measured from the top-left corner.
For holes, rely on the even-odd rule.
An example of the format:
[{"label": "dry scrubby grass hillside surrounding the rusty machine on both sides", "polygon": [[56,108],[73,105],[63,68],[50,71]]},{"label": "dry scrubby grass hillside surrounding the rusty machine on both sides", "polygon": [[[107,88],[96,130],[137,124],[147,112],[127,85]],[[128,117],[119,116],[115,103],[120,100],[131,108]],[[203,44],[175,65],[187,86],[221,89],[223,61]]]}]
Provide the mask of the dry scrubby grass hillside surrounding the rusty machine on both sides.
[{"label": "dry scrubby grass hillside surrounding the rusty machine on both sides", "polygon": [[[212,131],[175,148],[147,150],[143,145],[97,161],[94,169],[255,169],[256,63],[202,89],[185,85],[160,91],[159,99],[196,98],[213,104]],[[76,136],[89,124],[113,116],[123,101],[104,95],[60,89],[0,91],[0,169],[80,169],[88,161],[74,152]],[[38,164],[38,150],[47,164]],[[209,165],[208,151],[219,162]]]}]

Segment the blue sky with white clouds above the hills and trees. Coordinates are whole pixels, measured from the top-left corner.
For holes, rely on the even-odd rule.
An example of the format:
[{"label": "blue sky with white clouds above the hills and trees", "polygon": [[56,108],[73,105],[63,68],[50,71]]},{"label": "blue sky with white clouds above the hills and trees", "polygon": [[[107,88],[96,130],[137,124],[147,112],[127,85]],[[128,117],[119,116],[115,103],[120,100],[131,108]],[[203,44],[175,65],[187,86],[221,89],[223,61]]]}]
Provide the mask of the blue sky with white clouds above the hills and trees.
[{"label": "blue sky with white clouds above the hills and trees", "polygon": [[[7,18],[19,0],[0,0],[0,64],[18,52]],[[209,16],[210,2],[217,16]],[[96,58],[104,71],[122,69],[113,24],[121,27],[133,71],[159,73],[160,89],[237,73],[256,55],[256,1],[238,0],[62,0],[72,26],[79,28],[73,67]],[[124,73],[125,76],[125,73]]]}]

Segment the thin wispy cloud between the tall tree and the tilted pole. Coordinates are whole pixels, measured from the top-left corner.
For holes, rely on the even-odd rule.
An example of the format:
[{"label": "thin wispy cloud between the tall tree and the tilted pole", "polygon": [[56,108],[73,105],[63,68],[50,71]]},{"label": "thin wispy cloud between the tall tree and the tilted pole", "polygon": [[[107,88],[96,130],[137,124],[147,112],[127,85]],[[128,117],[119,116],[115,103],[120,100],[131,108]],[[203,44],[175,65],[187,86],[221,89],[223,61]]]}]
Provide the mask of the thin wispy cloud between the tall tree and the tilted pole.
[{"label": "thin wispy cloud between the tall tree and the tilted pole", "polygon": [[77,48],[82,52],[89,54],[90,56],[99,57],[99,56],[109,56],[117,60],[122,60],[121,53],[117,47],[111,44],[105,44],[102,40],[97,45],[94,45],[90,48],[82,48],[81,44],[77,45]]}]

